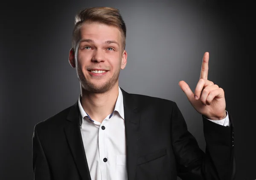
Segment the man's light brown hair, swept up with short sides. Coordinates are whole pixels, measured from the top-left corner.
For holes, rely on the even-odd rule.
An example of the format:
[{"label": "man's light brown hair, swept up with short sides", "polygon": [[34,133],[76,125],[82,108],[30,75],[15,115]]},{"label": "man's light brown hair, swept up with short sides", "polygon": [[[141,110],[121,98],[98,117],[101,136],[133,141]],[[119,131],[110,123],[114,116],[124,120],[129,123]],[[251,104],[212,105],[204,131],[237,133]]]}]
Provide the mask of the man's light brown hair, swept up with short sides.
[{"label": "man's light brown hair, swept up with short sides", "polygon": [[85,22],[98,22],[117,27],[122,35],[122,50],[125,49],[126,26],[119,9],[111,7],[93,7],[81,9],[76,14],[72,38],[72,48],[74,51],[76,51],[77,42],[80,39],[80,28]]}]

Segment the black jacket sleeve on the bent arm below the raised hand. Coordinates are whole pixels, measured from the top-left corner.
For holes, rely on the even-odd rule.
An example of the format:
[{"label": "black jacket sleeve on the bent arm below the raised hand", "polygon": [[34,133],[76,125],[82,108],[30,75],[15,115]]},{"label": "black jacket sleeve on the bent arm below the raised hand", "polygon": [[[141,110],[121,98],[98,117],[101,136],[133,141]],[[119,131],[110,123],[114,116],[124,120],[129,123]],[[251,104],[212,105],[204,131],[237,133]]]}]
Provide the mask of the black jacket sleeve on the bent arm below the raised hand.
[{"label": "black jacket sleeve on the bent arm below the raised hand", "polygon": [[233,180],[235,160],[231,116],[228,127],[203,117],[205,153],[187,130],[186,122],[176,103],[171,118],[172,147],[177,162],[177,175],[182,180]]}]

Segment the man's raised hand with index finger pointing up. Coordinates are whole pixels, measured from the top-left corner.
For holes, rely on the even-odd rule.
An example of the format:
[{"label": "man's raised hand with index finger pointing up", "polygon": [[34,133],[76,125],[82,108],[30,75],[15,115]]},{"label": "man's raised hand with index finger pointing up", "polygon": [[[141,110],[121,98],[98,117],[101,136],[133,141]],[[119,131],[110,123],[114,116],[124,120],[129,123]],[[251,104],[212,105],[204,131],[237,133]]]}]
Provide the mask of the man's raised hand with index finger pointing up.
[{"label": "man's raised hand with index finger pointing up", "polygon": [[207,80],[208,62],[209,52],[205,52],[195,93],[191,91],[189,85],[183,80],[179,82],[179,86],[196,111],[210,120],[221,120],[226,117],[224,90],[212,81]]}]

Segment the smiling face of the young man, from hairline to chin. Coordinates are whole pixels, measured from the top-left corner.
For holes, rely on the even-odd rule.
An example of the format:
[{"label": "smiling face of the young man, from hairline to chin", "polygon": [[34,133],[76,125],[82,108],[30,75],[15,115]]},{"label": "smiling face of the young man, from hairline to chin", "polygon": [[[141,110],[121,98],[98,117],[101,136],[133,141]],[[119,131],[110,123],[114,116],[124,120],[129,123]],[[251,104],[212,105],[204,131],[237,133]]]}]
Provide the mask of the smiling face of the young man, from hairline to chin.
[{"label": "smiling face of the young man, from hairline to chin", "polygon": [[103,93],[118,86],[120,69],[126,65],[118,28],[102,23],[85,23],[80,29],[76,71],[83,89]]}]

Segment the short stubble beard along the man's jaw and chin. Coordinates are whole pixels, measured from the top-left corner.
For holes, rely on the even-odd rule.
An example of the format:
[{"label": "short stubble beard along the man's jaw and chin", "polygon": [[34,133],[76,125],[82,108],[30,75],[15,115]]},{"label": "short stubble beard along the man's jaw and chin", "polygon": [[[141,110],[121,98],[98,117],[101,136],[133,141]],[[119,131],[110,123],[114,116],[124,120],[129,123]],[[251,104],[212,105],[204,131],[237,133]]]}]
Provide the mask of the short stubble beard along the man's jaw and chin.
[{"label": "short stubble beard along the man's jaw and chin", "polygon": [[109,78],[108,81],[101,86],[96,86],[95,83],[91,83],[88,80],[86,80],[81,69],[76,68],[76,73],[82,89],[84,89],[85,91],[89,91],[90,93],[105,93],[109,91],[118,81],[120,70],[116,71],[113,74],[113,77]]}]

